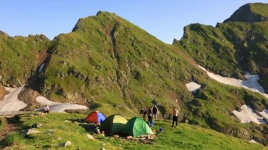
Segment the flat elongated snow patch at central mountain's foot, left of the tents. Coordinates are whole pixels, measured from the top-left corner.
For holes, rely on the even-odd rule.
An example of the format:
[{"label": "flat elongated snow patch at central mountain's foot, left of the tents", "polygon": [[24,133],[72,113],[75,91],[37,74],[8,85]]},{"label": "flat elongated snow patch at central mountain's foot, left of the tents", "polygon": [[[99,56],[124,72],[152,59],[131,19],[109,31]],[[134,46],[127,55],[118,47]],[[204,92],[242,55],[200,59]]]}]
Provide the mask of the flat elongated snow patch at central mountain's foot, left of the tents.
[{"label": "flat elongated snow patch at central mountain's foot, left of the tents", "polygon": [[[64,113],[65,110],[67,110],[67,109],[71,109],[71,110],[79,110],[79,109],[87,110],[88,109],[87,106],[83,106],[83,105],[63,104],[63,103],[49,101],[48,99],[46,99],[43,96],[37,96],[37,98],[35,98],[35,99],[39,104],[48,105],[51,112]],[[43,108],[35,109],[35,111],[42,111],[42,110],[43,110]]]}]

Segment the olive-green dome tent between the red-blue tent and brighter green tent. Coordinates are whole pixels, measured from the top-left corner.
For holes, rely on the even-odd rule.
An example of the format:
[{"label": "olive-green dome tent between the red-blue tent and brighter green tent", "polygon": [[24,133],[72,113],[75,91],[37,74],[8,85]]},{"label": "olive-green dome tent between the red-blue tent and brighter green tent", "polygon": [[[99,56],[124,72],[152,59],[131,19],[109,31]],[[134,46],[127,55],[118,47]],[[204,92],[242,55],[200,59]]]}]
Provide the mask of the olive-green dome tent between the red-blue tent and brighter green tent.
[{"label": "olive-green dome tent between the red-blue tent and brighter green tent", "polygon": [[128,120],[121,115],[110,115],[102,122],[99,130],[104,131],[109,135],[114,135],[117,132],[121,132],[127,122]]}]

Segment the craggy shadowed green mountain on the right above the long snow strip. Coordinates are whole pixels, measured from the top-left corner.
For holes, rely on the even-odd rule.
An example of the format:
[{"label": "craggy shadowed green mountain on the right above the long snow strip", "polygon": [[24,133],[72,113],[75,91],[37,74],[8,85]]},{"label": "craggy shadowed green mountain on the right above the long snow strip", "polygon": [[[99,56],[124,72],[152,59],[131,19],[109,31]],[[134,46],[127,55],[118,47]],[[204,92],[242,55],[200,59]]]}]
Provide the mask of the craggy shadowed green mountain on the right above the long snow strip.
[{"label": "craggy shadowed green mountain on the right above the long snow strip", "polygon": [[[250,10],[260,12],[260,14],[268,11],[268,4],[245,6],[250,6]],[[233,15],[244,11],[245,6]],[[249,12],[252,13],[252,11]],[[259,74],[260,85],[267,92],[268,22],[236,21],[246,22],[246,20],[233,19],[226,23],[218,23],[216,27],[200,24],[188,25],[185,27],[182,39],[174,40],[173,44],[183,47],[198,64],[220,75],[243,78],[245,71]]]}]

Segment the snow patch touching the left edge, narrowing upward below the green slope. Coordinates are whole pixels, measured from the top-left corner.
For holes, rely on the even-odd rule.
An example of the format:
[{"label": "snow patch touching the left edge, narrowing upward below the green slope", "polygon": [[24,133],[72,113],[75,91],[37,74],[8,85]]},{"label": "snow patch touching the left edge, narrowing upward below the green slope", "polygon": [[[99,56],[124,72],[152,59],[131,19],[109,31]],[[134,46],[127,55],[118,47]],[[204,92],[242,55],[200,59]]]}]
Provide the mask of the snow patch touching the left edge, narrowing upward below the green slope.
[{"label": "snow patch touching the left edge, narrowing upward below the green slope", "polygon": [[18,99],[18,94],[23,90],[23,87],[18,88],[6,88],[9,93],[4,96],[4,99],[0,101],[0,115],[8,113],[16,113],[25,108],[27,104]]}]

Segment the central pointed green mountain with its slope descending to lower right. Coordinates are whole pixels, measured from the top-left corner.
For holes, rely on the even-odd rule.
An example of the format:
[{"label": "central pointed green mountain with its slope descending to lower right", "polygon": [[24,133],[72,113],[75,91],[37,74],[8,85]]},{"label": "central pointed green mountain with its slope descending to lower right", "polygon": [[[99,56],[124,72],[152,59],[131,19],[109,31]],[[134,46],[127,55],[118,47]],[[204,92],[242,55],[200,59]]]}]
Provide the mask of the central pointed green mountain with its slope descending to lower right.
[{"label": "central pointed green mountain with its slope descending to lower right", "polygon": [[[217,38],[214,41],[224,43]],[[178,105],[182,121],[267,142],[258,125],[240,124],[231,112],[242,104],[257,110],[267,108],[267,99],[207,80],[207,75],[176,46],[164,44],[113,13],[99,12],[80,19],[73,32],[53,40],[50,52],[46,68],[38,75],[39,91],[49,99],[126,116],[137,114],[156,99],[162,116],[169,116],[171,106]],[[226,58],[219,64],[233,61],[236,68],[235,59],[227,54]],[[191,81],[202,85],[194,95],[185,87]]]}]

